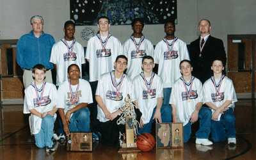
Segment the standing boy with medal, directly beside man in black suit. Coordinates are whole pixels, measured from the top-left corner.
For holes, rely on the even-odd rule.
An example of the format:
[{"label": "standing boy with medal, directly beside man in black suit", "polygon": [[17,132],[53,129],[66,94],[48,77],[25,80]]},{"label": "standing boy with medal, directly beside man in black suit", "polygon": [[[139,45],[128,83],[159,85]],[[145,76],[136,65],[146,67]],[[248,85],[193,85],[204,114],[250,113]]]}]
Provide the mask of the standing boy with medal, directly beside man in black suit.
[{"label": "standing boy with medal, directly beside man in black suit", "polygon": [[169,105],[173,83],[181,76],[180,61],[189,60],[187,45],[174,35],[175,31],[175,22],[167,21],[164,24],[166,37],[156,45],[155,49],[154,59],[159,64],[157,74],[163,80],[164,105]]}]

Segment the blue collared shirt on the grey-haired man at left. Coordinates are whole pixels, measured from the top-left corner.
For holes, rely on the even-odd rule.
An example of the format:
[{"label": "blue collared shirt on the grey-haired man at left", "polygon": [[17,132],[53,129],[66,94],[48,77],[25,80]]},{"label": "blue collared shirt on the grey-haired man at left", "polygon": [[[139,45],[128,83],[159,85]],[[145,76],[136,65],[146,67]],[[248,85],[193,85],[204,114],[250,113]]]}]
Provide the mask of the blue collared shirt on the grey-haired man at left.
[{"label": "blue collared shirt on the grey-haired man at left", "polygon": [[55,40],[51,35],[45,34],[37,38],[33,31],[20,37],[17,44],[16,58],[17,62],[24,68],[31,69],[37,64],[42,64],[46,68],[53,68],[50,63],[52,45]]}]

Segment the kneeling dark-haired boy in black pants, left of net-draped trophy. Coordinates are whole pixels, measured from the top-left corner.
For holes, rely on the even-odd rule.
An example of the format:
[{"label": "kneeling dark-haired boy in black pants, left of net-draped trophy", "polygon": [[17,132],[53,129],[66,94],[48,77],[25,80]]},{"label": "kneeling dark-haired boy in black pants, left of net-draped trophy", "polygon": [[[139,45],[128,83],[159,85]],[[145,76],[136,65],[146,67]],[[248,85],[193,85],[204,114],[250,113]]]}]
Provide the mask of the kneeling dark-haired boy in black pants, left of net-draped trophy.
[{"label": "kneeling dark-haired boy in black pants, left of net-draped trophy", "polygon": [[124,74],[127,58],[124,55],[117,56],[114,66],[115,70],[100,76],[95,96],[98,103],[97,118],[100,121],[104,143],[108,146],[116,145],[119,139],[120,129],[116,121],[122,113],[120,107],[125,99],[128,99],[128,94],[135,104],[132,81]]}]

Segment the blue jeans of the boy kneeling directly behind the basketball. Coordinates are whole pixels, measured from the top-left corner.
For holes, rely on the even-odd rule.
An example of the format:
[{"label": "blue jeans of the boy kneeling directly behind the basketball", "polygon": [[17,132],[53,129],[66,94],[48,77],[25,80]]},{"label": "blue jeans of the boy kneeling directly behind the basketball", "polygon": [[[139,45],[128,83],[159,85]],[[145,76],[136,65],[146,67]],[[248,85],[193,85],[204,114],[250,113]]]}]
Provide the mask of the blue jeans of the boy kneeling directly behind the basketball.
[{"label": "blue jeans of the boy kneeling directly behind the basketball", "polygon": [[[152,120],[154,115],[156,112],[156,108],[154,108],[152,116],[150,118],[150,121],[147,124],[143,125],[143,129],[139,128],[139,134],[143,133],[143,132],[151,132],[152,129],[152,124],[153,122],[155,122],[156,120]],[[162,123],[170,123],[172,122],[172,106],[162,106],[161,107],[161,119],[162,119]]]}]

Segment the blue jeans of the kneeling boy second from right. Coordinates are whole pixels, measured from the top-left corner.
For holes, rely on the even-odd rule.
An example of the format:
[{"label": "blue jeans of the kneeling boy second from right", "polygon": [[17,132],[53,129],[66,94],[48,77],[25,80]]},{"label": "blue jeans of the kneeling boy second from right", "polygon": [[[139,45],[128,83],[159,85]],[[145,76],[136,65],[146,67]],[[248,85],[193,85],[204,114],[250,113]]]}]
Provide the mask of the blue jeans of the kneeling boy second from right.
[{"label": "blue jeans of the kneeling boy second from right", "polygon": [[[208,139],[211,132],[211,117],[212,111],[209,108],[202,107],[198,113],[200,119],[200,127],[196,131],[196,138]],[[191,135],[191,122],[183,126],[184,143],[187,143]]]}]

